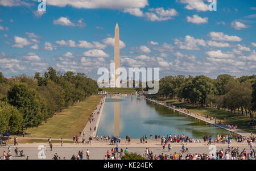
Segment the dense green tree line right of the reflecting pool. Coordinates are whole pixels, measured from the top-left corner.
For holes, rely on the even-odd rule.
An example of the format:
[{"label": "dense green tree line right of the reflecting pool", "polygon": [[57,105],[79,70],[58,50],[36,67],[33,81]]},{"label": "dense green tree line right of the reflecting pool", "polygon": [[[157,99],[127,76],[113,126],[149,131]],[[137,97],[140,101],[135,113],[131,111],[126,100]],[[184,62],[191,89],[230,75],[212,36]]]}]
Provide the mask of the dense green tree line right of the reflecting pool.
[{"label": "dense green tree line right of the reflecting pool", "polygon": [[158,96],[177,98],[200,106],[249,113],[256,110],[256,76],[233,78],[221,74],[216,79],[206,76],[167,76],[159,80]]}]

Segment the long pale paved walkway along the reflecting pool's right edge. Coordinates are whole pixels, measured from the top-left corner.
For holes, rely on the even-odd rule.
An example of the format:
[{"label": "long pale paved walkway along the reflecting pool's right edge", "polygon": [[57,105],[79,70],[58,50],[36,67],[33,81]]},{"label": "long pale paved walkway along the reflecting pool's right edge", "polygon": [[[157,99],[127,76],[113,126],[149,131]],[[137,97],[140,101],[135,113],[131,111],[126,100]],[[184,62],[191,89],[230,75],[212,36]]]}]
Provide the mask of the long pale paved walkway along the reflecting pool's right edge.
[{"label": "long pale paved walkway along the reflecting pool's right edge", "polygon": [[[142,96],[142,97],[143,97],[143,96]],[[146,97],[144,97],[144,98],[146,98]],[[146,98],[146,99],[147,99],[147,98]],[[246,132],[246,131],[243,131],[243,130],[240,130],[240,129],[236,129],[236,130],[235,130],[235,129],[230,129],[230,128],[226,127],[225,124],[215,124],[215,123],[214,123],[214,120],[210,120],[209,118],[204,118],[204,116],[200,116],[200,115],[198,115],[198,114],[193,114],[193,113],[188,114],[187,112],[183,111],[182,109],[175,109],[175,108],[170,107],[170,106],[168,106],[168,105],[166,105],[166,104],[164,104],[164,103],[157,102],[157,101],[155,101],[154,99],[147,99],[147,100],[148,100],[148,101],[151,101],[151,102],[154,102],[154,103],[157,103],[158,105],[162,105],[162,106],[164,106],[164,107],[168,107],[169,109],[172,109],[172,110],[181,112],[181,113],[183,113],[183,114],[185,114],[185,115],[192,116],[193,118],[203,120],[204,122],[207,122],[207,123],[209,123],[209,124],[212,124],[212,125],[214,125],[214,126],[216,126],[216,127],[220,127],[220,128],[225,129],[225,130],[228,130],[228,131],[230,131],[230,132],[234,132],[235,134],[242,135],[242,136],[246,136],[246,137],[249,137],[249,136],[251,135],[249,132]]]}]

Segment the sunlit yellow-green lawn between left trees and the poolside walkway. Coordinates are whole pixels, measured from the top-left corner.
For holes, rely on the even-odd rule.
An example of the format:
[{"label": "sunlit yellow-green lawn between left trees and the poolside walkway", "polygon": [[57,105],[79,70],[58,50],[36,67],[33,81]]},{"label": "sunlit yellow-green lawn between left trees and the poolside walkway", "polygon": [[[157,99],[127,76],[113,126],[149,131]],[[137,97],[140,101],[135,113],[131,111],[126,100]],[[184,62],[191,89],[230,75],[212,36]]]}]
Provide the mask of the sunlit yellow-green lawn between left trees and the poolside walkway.
[{"label": "sunlit yellow-green lawn between left trees and the poolside walkway", "polygon": [[[32,133],[33,137],[52,137],[72,139],[74,135],[84,130],[88,122],[89,115],[100,102],[101,96],[94,95],[63,112],[49,118],[47,123],[39,127],[28,128],[27,133]],[[30,135],[27,135],[30,136]]]}]

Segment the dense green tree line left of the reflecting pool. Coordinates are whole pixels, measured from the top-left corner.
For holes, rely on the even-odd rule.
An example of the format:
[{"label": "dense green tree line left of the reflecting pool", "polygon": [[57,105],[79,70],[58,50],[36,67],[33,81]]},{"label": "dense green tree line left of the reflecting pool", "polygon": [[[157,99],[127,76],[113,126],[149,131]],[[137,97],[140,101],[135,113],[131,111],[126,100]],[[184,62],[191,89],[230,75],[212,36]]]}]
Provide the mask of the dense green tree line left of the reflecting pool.
[{"label": "dense green tree line left of the reflecting pool", "polygon": [[63,74],[52,67],[34,77],[22,74],[8,80],[0,72],[0,132],[37,127],[56,112],[97,94],[97,89],[97,82],[84,73]]}]

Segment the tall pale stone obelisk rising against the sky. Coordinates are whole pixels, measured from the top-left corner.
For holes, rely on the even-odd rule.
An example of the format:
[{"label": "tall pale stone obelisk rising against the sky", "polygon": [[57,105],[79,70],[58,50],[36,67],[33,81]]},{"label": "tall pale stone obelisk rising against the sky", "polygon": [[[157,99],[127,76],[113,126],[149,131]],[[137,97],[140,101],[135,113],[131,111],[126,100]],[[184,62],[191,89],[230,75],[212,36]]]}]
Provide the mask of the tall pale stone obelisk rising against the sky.
[{"label": "tall pale stone obelisk rising against the sky", "polygon": [[119,27],[118,24],[115,25],[115,53],[114,53],[114,62],[115,62],[115,87],[120,87],[120,72],[117,70],[119,68]]}]

